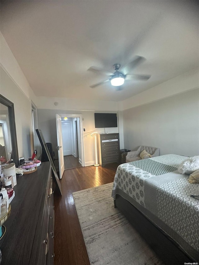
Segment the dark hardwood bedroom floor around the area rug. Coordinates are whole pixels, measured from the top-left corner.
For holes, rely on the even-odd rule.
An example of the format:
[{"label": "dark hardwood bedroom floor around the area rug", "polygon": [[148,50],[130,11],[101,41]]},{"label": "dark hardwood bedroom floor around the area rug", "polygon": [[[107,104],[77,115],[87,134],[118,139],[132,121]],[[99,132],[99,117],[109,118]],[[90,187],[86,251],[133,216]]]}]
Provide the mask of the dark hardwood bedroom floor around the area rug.
[{"label": "dark hardwood bedroom floor around the area rug", "polygon": [[64,171],[60,180],[62,196],[54,192],[54,264],[90,264],[81,233],[72,192],[113,182],[118,164],[79,167]]}]

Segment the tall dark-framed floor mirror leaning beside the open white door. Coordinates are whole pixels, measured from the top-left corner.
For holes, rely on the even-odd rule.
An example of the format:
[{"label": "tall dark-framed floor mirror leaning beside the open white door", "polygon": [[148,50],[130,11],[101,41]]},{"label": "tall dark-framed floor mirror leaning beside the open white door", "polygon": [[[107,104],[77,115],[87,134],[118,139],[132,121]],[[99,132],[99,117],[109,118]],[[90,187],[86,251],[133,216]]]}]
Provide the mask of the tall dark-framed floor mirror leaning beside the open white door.
[{"label": "tall dark-framed floor mirror leaning beside the open white door", "polygon": [[61,183],[59,181],[59,177],[57,175],[57,172],[56,172],[56,169],[55,169],[53,160],[52,160],[52,158],[50,156],[49,148],[48,148],[48,146],[47,146],[47,144],[45,142],[44,135],[43,135],[43,133],[42,133],[42,131],[40,129],[36,129],[36,132],[37,132],[37,135],[38,135],[38,138],[39,138],[39,141],[40,141],[42,150],[45,150],[46,156],[48,157],[49,161],[51,162],[51,167],[52,167],[52,171],[53,171],[53,178],[55,180],[55,183],[58,186],[58,189],[59,189],[60,194],[62,195]]}]

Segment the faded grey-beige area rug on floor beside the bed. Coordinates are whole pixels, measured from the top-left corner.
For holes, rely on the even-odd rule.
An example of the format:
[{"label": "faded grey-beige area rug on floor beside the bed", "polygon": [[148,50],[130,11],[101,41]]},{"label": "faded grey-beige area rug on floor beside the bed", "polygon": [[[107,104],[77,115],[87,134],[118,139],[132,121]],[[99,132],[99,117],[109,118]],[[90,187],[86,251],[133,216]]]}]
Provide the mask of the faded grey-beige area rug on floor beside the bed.
[{"label": "faded grey-beige area rug on floor beside the bed", "polygon": [[90,264],[162,264],[127,219],[114,208],[113,183],[74,192]]}]

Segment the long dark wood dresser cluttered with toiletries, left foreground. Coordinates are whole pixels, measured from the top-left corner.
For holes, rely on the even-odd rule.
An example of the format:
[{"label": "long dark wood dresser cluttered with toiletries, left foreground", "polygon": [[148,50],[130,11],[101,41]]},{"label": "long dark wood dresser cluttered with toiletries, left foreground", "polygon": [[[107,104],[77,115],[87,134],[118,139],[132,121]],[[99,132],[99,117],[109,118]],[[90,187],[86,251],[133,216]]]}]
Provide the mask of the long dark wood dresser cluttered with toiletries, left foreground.
[{"label": "long dark wood dresser cluttered with toiletries, left foreground", "polygon": [[19,176],[0,240],[3,264],[53,264],[54,200],[50,162]]}]

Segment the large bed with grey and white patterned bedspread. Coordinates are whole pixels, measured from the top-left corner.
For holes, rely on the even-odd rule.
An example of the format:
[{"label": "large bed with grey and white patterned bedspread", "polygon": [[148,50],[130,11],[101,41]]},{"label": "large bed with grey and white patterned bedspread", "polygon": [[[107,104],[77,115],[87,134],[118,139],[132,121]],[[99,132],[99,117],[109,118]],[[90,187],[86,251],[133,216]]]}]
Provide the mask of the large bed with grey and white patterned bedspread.
[{"label": "large bed with grey and white patterned bedspread", "polygon": [[186,157],[168,154],[118,166],[114,205],[129,219],[166,264],[198,264],[199,184],[179,174]]}]

